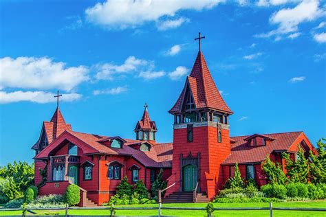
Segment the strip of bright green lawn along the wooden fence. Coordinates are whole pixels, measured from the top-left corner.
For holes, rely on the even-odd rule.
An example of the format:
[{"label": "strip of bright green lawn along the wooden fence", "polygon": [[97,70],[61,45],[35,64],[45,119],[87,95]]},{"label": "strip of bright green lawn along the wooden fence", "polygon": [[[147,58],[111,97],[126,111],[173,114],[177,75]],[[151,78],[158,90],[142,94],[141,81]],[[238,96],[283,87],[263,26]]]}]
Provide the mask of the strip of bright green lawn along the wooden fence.
[{"label": "strip of bright green lawn along the wooden fence", "polygon": [[[170,203],[163,204],[163,207],[206,207],[206,203]],[[214,207],[268,207],[268,203],[214,203]],[[157,207],[154,205],[120,205],[117,207]],[[287,202],[273,203],[273,207],[306,207],[306,208],[325,208],[326,201],[303,201],[303,202]],[[109,210],[69,210],[71,215],[109,215]],[[36,211],[38,215],[44,214],[65,214],[65,211]],[[215,211],[215,216],[269,216],[268,210],[254,211]],[[0,216],[21,215],[21,211],[0,212]],[[32,215],[32,214],[29,214]],[[119,216],[157,216],[157,210],[116,210],[116,215]],[[187,211],[187,210],[162,210],[164,216],[205,216],[205,211]],[[306,212],[306,211],[273,211],[274,217],[299,216],[299,217],[316,217],[326,216],[325,212]]]}]

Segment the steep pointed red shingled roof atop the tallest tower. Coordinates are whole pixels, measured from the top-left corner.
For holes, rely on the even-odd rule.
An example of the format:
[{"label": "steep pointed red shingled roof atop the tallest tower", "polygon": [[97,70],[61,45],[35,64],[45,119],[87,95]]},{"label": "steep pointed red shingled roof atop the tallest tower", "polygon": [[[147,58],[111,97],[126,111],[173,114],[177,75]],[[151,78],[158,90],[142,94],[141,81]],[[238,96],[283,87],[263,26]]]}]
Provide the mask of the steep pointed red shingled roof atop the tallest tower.
[{"label": "steep pointed red shingled roof atop the tallest tower", "polygon": [[[202,52],[198,52],[195,64],[193,65],[191,74],[188,76],[186,82],[189,83],[197,109],[209,108],[230,114],[233,113],[221,97],[221,94],[219,93],[219,90],[217,89],[215,82],[210,75],[210,71],[208,70]],[[170,113],[180,111],[185,89],[186,85],[182,90],[177,102],[169,111]]]}]

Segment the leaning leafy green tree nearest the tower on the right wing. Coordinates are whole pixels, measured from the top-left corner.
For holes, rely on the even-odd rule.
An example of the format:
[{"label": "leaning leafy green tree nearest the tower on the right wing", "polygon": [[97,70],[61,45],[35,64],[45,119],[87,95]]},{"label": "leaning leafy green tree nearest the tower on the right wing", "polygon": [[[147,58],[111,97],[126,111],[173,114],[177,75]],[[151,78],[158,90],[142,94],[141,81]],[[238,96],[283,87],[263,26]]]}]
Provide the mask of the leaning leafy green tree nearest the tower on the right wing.
[{"label": "leaning leafy green tree nearest the tower on the right wing", "polygon": [[280,185],[287,183],[287,177],[285,176],[281,165],[279,165],[279,163],[273,163],[268,155],[263,163],[261,163],[261,169],[270,179],[270,183]]}]

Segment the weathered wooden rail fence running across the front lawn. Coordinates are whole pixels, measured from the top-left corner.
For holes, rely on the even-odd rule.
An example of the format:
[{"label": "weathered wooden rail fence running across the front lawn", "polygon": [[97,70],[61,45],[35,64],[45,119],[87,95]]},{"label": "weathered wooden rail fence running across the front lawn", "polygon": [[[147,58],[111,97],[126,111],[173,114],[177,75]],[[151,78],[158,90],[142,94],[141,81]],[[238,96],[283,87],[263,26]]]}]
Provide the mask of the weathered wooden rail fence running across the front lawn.
[{"label": "weathered wooden rail fence running across the front lawn", "polygon": [[[34,214],[35,216],[37,215],[36,212],[38,210],[65,210],[65,217],[79,217],[78,215],[69,215],[69,209],[88,209],[88,210],[98,210],[98,209],[106,209],[110,210],[110,216],[116,216],[114,215],[115,210],[139,210],[139,209],[155,209],[157,210],[157,216],[161,217],[162,216],[162,210],[163,209],[169,209],[169,210],[201,210],[201,211],[206,211],[206,208],[203,207],[162,207],[162,203],[159,203],[158,207],[114,207],[113,205],[111,207],[61,207],[61,208],[34,208],[34,209],[26,209],[27,212],[30,212],[31,214]],[[273,216],[273,210],[286,210],[286,211],[315,211],[315,212],[326,212],[326,209],[323,208],[296,208],[296,207],[273,207],[272,203],[270,203],[270,207],[217,207],[213,208],[214,211],[221,211],[221,210],[238,210],[238,211],[246,211],[246,210],[269,210],[270,211],[270,217]],[[13,208],[13,209],[0,209],[1,211],[18,211],[21,210],[23,212],[23,209],[21,208]],[[218,214],[215,213],[215,214]],[[21,216],[21,215],[19,215]],[[58,216],[58,215],[56,215]],[[59,217],[59,216],[58,216]],[[85,217],[85,216],[83,216]],[[100,217],[100,216],[96,216]]]}]

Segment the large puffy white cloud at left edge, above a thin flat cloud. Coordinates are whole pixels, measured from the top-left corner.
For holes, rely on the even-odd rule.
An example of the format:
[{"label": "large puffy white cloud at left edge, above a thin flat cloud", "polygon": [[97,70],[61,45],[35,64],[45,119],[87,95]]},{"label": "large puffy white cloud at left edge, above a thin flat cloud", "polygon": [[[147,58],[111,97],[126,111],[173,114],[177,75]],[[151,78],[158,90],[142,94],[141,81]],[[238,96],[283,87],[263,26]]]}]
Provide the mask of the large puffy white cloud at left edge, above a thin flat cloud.
[{"label": "large puffy white cloud at left edge, above a thin flat cloud", "polygon": [[66,67],[64,62],[51,58],[19,57],[0,58],[0,89],[63,89],[71,91],[89,80],[89,69],[84,66]]}]

